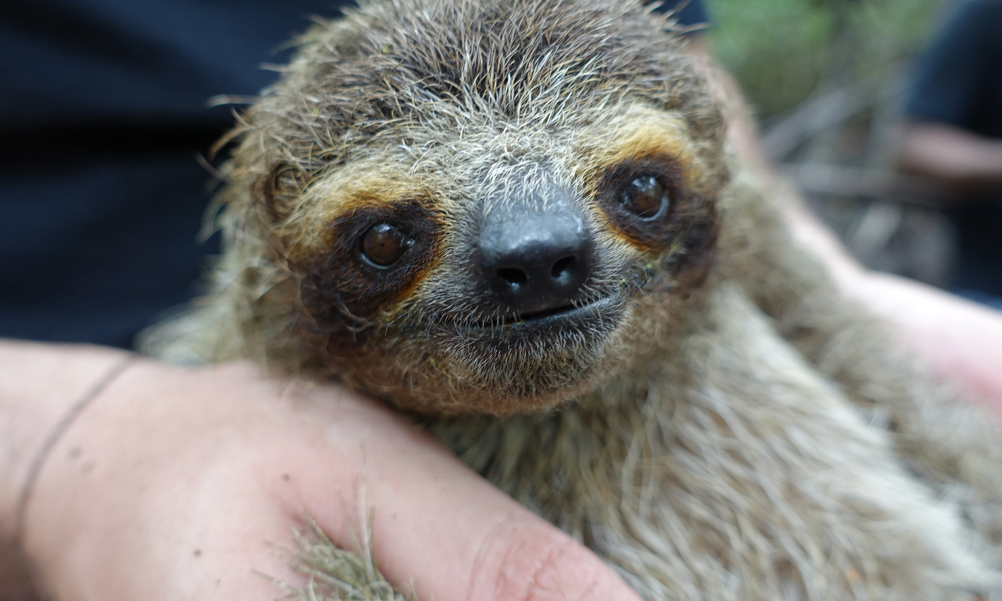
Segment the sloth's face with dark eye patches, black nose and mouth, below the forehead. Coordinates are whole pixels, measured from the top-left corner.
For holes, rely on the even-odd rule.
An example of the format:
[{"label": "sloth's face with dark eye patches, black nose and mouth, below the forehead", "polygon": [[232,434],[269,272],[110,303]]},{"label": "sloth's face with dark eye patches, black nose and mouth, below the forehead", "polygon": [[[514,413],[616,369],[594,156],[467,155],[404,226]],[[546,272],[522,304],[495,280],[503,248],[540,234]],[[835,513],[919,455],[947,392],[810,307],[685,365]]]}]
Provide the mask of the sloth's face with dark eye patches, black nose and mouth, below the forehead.
[{"label": "sloth's face with dark eye patches, black nose and mouth, below the forehead", "polygon": [[323,233],[291,264],[323,361],[367,390],[395,381],[398,403],[474,389],[464,411],[504,413],[656,345],[709,264],[714,196],[676,117],[626,112],[559,139],[467,131],[470,160],[397,146],[315,181],[298,219]]}]

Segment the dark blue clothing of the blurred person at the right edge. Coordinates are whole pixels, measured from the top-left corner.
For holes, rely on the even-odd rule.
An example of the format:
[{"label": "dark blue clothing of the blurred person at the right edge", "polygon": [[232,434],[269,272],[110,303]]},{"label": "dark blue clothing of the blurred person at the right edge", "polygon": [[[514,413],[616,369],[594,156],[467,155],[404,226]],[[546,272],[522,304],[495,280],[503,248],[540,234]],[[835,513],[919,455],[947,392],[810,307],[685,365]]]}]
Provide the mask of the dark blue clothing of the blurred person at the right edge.
[{"label": "dark blue clothing of the blurred person at the right edge", "polygon": [[[1002,139],[1002,0],[961,6],[920,60],[906,113]],[[958,237],[952,286],[1002,296],[1002,190],[946,214]]]}]

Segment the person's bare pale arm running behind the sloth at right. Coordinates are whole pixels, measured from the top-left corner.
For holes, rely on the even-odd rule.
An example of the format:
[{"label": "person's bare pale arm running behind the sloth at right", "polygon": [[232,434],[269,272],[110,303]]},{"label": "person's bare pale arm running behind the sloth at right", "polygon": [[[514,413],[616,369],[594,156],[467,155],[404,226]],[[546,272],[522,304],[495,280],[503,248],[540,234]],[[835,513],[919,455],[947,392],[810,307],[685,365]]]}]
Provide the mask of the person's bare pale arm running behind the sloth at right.
[{"label": "person's bare pale arm running behind the sloth at right", "polygon": [[[726,106],[727,137],[745,165],[771,188],[796,241],[819,255],[842,292],[889,323],[897,340],[931,373],[967,398],[991,403],[1002,417],[1002,314],[933,286],[867,269],[835,233],[785,185],[762,152],[756,126],[733,77],[711,58],[706,40],[695,36],[689,49],[706,61]],[[736,100],[735,100],[736,99]]]}]

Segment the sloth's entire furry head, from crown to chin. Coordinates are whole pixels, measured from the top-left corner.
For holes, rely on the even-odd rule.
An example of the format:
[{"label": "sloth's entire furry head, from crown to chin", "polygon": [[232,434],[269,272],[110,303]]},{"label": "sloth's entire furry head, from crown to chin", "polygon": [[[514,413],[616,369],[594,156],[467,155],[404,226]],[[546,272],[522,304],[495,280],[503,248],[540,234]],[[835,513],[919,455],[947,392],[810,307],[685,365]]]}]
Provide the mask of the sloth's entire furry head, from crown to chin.
[{"label": "sloth's entire furry head, from crown to chin", "polygon": [[244,344],[430,413],[546,409],[641,362],[705,275],[726,176],[669,28],[611,0],[314,27],[223,192]]}]

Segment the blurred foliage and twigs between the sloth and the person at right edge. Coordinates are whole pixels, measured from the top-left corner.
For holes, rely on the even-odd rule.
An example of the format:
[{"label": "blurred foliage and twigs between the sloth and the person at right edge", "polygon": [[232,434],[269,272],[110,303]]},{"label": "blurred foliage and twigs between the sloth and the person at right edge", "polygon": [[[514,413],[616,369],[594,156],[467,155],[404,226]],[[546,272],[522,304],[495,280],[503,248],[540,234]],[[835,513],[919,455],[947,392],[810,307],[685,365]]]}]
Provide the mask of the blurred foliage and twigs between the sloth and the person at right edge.
[{"label": "blurred foliage and twigs between the sloth and the person at right edge", "polygon": [[816,212],[863,263],[948,286],[956,233],[941,194],[900,173],[897,153],[913,63],[960,2],[706,4],[713,54],[744,90],[766,153]]}]

